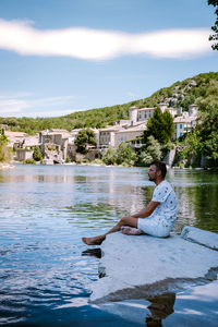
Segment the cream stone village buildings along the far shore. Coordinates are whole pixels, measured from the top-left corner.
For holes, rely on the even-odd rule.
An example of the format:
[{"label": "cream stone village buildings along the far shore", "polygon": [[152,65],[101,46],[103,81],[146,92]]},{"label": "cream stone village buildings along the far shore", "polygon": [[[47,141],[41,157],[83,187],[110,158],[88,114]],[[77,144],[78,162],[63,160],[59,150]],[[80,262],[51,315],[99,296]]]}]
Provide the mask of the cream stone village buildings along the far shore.
[{"label": "cream stone village buildings along the far shore", "polygon": [[[182,111],[182,108],[169,107],[168,104],[158,105],[161,112],[169,111],[173,117],[174,137],[183,136],[186,132],[192,131],[196,125],[198,107],[190,105],[189,111]],[[146,130],[147,121],[154,116],[156,108],[137,108],[131,107],[129,110],[129,120],[114,122],[105,129],[93,129],[96,135],[96,146],[89,146],[85,156],[88,160],[98,158],[102,150],[109,146],[118,148],[118,146],[128,142],[133,148],[143,146],[140,138]],[[4,134],[9,140],[9,147],[14,149],[14,160],[24,162],[33,159],[34,148],[38,146],[44,156],[44,165],[64,164],[66,158],[69,161],[77,162],[81,160],[81,154],[76,153],[75,140],[81,129],[68,132],[66,130],[51,129],[40,131],[38,134],[31,136],[23,132],[12,132],[4,130]]]}]

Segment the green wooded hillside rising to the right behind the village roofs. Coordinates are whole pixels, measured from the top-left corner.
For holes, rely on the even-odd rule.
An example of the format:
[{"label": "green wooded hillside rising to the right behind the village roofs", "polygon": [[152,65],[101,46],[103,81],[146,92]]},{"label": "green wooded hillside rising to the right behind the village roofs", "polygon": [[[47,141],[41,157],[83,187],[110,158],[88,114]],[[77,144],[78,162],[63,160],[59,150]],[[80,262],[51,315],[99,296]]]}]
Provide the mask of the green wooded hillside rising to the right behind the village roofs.
[{"label": "green wooded hillside rising to the right behind the village roofs", "polygon": [[35,134],[46,129],[65,129],[71,131],[80,128],[104,128],[113,121],[128,119],[132,106],[156,107],[159,102],[168,102],[171,107],[182,107],[187,110],[189,105],[197,104],[199,110],[218,104],[218,73],[203,73],[182,82],[175,82],[150,97],[131,101],[124,105],[78,111],[58,118],[1,118],[0,124],[8,124],[12,131]]}]

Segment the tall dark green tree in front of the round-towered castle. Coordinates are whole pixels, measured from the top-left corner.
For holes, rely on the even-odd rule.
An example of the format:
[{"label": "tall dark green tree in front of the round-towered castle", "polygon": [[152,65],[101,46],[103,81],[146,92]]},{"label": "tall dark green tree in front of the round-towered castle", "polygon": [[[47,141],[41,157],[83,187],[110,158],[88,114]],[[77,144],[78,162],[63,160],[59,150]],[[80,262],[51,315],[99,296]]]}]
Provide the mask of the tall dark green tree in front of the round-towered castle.
[{"label": "tall dark green tree in front of the round-towered castle", "polygon": [[147,122],[147,131],[144,133],[145,143],[147,137],[153,135],[160,144],[167,144],[174,134],[174,124],[172,116],[160,108],[155,110],[154,116]]}]

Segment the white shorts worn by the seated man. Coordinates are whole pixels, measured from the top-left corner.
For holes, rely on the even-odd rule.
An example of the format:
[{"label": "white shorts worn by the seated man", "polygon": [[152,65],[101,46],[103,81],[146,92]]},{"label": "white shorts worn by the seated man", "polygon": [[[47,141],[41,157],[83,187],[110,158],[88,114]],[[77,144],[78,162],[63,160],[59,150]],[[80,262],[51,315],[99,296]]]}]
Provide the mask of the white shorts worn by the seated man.
[{"label": "white shorts worn by the seated man", "polygon": [[172,226],[169,226],[161,217],[153,217],[138,218],[137,228],[148,235],[167,238],[170,234]]}]

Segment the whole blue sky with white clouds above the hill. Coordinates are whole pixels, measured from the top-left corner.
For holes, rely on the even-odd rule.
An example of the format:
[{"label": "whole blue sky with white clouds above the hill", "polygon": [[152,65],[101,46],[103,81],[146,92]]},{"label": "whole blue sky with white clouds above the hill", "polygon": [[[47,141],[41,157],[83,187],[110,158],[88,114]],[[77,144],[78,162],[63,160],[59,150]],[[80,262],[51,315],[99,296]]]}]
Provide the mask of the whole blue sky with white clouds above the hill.
[{"label": "whole blue sky with white clouds above the hill", "polygon": [[218,71],[207,0],[0,0],[0,117],[121,105]]}]

